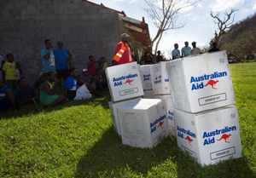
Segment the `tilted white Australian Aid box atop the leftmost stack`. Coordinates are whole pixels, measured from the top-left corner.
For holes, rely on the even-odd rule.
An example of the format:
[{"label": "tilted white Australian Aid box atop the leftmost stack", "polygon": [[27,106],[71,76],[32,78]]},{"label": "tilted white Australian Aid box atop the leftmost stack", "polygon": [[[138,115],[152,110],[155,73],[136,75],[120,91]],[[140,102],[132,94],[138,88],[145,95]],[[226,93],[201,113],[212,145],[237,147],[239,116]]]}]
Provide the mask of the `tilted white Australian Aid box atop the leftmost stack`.
[{"label": "tilted white Australian Aid box atop the leftmost stack", "polygon": [[106,69],[111,100],[127,100],[143,96],[143,85],[137,62],[110,66]]}]

